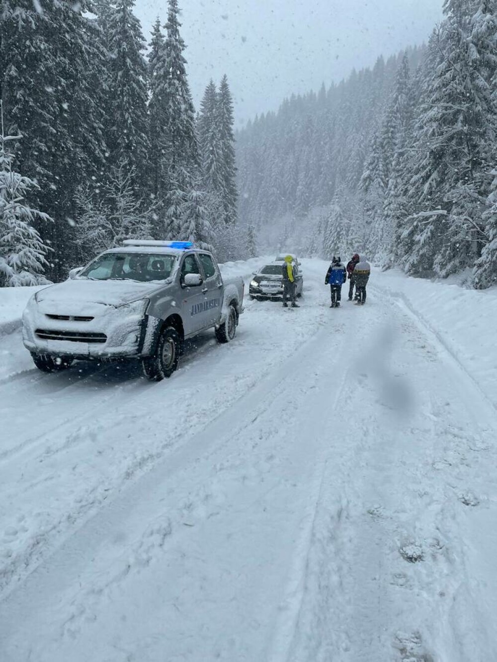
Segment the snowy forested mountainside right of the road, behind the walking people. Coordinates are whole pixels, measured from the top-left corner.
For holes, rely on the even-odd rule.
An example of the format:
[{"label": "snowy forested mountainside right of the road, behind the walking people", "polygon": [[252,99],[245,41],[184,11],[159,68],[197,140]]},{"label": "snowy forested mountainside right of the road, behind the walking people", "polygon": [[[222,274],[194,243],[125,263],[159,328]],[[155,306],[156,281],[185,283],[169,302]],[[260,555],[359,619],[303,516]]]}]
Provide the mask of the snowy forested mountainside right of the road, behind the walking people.
[{"label": "snowy forested mountainside right of the road, behind the walking people", "polygon": [[446,0],[427,46],[237,136],[239,212],[270,243],[360,250],[413,275],[497,279],[494,0]]}]

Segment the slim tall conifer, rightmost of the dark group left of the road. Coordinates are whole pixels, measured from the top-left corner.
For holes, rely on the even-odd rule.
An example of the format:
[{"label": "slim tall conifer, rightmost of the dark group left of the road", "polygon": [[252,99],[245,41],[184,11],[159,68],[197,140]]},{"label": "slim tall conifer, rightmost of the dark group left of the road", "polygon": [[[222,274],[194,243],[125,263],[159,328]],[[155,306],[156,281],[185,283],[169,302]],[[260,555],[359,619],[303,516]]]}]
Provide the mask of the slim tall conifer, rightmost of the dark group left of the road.
[{"label": "slim tall conifer, rightmost of the dark group left of the road", "polygon": [[223,75],[219,84],[217,118],[223,180],[223,220],[226,224],[235,224],[237,222],[237,185],[235,181],[237,168],[235,165],[235,136],[233,134],[233,100],[226,74]]}]

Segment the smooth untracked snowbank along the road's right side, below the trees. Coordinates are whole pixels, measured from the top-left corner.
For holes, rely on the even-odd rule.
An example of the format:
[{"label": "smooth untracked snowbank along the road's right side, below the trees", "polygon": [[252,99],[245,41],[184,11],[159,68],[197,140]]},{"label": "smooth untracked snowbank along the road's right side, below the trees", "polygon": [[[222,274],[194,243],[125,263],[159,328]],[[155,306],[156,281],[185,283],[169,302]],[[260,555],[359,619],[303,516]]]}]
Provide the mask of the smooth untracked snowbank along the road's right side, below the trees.
[{"label": "smooth untracked snowbank along the road's right side, below the trees", "polygon": [[477,291],[444,281],[411,278],[392,269],[374,271],[372,294],[381,291],[407,307],[497,407],[497,289]]}]

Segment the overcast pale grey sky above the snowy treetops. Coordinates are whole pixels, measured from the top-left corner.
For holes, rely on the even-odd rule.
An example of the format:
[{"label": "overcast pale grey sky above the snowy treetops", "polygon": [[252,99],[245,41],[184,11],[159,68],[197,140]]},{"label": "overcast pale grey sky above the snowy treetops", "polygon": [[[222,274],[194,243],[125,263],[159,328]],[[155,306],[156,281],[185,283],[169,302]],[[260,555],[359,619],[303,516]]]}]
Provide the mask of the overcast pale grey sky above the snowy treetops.
[{"label": "overcast pale grey sky above the snowy treetops", "polygon": [[[136,0],[146,41],[166,0]],[[292,93],[317,91],[355,67],[421,44],[442,17],[442,0],[180,0],[195,107],[227,73],[237,126],[276,110]]]}]

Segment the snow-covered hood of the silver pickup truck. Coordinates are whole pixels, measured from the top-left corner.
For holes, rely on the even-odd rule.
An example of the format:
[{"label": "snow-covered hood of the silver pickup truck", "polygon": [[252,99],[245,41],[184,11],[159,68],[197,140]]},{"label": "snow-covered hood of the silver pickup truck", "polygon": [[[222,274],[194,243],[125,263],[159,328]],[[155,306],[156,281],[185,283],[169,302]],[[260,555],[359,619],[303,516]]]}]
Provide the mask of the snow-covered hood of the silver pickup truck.
[{"label": "snow-covered hood of the silver pickup truck", "polygon": [[43,308],[50,307],[52,312],[80,314],[83,307],[105,305],[119,307],[163,287],[158,283],[137,283],[136,281],[91,281],[74,279],[51,285],[38,292],[36,301]]}]

